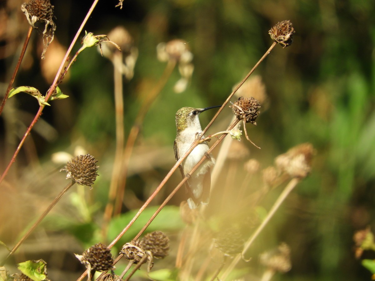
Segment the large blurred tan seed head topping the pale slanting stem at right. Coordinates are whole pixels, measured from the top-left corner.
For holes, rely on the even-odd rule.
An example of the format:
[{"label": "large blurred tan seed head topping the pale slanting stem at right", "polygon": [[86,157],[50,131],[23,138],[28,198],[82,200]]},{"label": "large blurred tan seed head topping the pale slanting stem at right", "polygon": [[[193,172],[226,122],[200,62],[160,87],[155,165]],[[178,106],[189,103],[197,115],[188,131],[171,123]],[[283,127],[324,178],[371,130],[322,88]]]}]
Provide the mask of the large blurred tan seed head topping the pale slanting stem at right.
[{"label": "large blurred tan seed head topping the pale slanting stem at right", "polygon": [[311,143],[302,143],[275,159],[276,166],[292,178],[305,178],[311,170],[315,149]]}]

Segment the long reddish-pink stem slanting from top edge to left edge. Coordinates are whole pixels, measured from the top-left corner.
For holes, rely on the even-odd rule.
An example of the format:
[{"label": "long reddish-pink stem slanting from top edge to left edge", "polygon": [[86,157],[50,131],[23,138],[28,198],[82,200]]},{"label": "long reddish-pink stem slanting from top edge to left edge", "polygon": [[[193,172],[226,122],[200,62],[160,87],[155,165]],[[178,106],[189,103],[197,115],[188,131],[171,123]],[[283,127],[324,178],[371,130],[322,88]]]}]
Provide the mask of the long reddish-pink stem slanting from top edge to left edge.
[{"label": "long reddish-pink stem slanting from top edge to left edge", "polygon": [[[45,97],[45,101],[46,102],[49,100],[49,98],[51,97],[52,93],[56,89],[56,87],[57,87],[57,80],[59,79],[60,73],[61,73],[61,71],[62,71],[62,69],[63,69],[66,61],[68,61],[69,54],[71,53],[72,48],[73,48],[75,42],[77,42],[77,39],[80,36],[80,34],[81,34],[82,30],[83,30],[84,25],[86,24],[87,20],[89,19],[90,15],[92,14],[92,12],[93,12],[96,4],[98,3],[98,1],[99,0],[94,0],[93,1],[93,4],[92,4],[92,6],[89,9],[89,12],[87,12],[87,15],[84,18],[84,20],[83,20],[80,28],[78,28],[78,31],[75,34],[74,39],[72,40],[72,43],[71,43],[71,45],[68,48],[68,51],[66,51],[65,57],[64,57],[62,63],[60,64],[60,68],[58,69],[58,71],[56,73],[55,79],[54,79],[51,87],[49,88],[48,93],[46,94],[46,97]],[[1,177],[0,177],[0,184],[3,181],[3,179],[5,178],[5,176],[7,175],[10,167],[12,166],[12,164],[14,163],[14,161],[16,160],[16,157],[17,157],[18,153],[20,152],[20,150],[21,150],[24,142],[26,141],[27,136],[30,135],[31,129],[33,129],[34,125],[36,124],[36,122],[40,118],[40,115],[42,115],[42,111],[43,111],[44,107],[45,107],[45,105],[40,105],[39,110],[38,110],[38,112],[36,113],[36,115],[34,117],[34,120],[31,121],[30,126],[27,128],[26,133],[24,134],[23,138],[21,139],[20,143],[17,146],[17,149],[14,152],[12,159],[10,160],[9,164],[5,168],[3,174],[1,175]]]}]

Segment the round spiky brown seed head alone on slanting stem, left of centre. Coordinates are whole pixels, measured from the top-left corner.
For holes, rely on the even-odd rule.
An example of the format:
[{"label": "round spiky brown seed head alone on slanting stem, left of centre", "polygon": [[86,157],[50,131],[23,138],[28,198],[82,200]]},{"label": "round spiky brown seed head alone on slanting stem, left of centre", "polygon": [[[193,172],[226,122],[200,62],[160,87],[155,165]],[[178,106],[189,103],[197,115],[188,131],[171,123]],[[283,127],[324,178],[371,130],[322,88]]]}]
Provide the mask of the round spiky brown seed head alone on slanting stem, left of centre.
[{"label": "round spiky brown seed head alone on slanting stem, left of centre", "polygon": [[65,170],[67,172],[66,179],[72,179],[77,184],[87,185],[92,189],[91,185],[94,184],[96,176],[98,176],[99,166],[96,166],[96,162],[98,160],[95,160],[90,154],[79,155],[72,158],[60,172]]}]

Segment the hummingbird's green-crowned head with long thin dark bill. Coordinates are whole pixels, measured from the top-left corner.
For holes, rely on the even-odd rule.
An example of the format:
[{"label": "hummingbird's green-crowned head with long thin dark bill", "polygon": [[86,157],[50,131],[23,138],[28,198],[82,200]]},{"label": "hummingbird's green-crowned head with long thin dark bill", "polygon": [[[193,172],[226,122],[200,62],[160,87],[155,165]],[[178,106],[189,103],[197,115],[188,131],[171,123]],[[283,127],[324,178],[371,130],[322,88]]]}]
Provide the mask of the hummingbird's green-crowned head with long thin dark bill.
[{"label": "hummingbird's green-crowned head with long thin dark bill", "polygon": [[219,106],[211,106],[207,108],[193,108],[193,107],[183,107],[178,109],[176,113],[176,127],[177,132],[181,132],[187,127],[198,127],[201,128],[199,123],[199,114],[207,109],[216,108]]}]

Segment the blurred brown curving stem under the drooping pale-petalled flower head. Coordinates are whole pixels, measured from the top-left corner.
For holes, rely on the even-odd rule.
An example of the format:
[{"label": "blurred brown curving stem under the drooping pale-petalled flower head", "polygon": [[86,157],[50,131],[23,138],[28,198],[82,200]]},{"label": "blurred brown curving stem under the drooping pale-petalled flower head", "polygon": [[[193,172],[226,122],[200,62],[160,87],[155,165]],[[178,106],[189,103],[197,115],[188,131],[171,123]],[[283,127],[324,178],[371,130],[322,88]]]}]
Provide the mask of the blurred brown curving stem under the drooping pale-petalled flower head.
[{"label": "blurred brown curving stem under the drooping pale-petalled flower head", "polygon": [[150,109],[152,103],[159,95],[160,91],[164,88],[166,82],[171,77],[171,74],[173,72],[174,67],[176,66],[175,60],[169,60],[162,76],[160,77],[159,81],[157,82],[156,86],[153,88],[153,90],[150,91],[150,93],[147,95],[147,97],[142,102],[141,108],[139,109],[138,115],[135,118],[134,125],[130,129],[129,136],[127,138],[126,146],[124,149],[124,155],[123,155],[123,166],[121,168],[122,174],[124,175],[123,180],[118,187],[118,191],[116,192],[116,198],[115,198],[115,207],[114,207],[114,215],[118,215],[121,212],[122,203],[124,200],[124,193],[125,193],[125,187],[126,187],[126,178],[127,178],[127,171],[129,169],[129,163],[130,163],[130,156],[132,155],[133,147],[136,138],[138,137],[139,130],[141,129],[141,124],[143,123],[143,120]]}]

